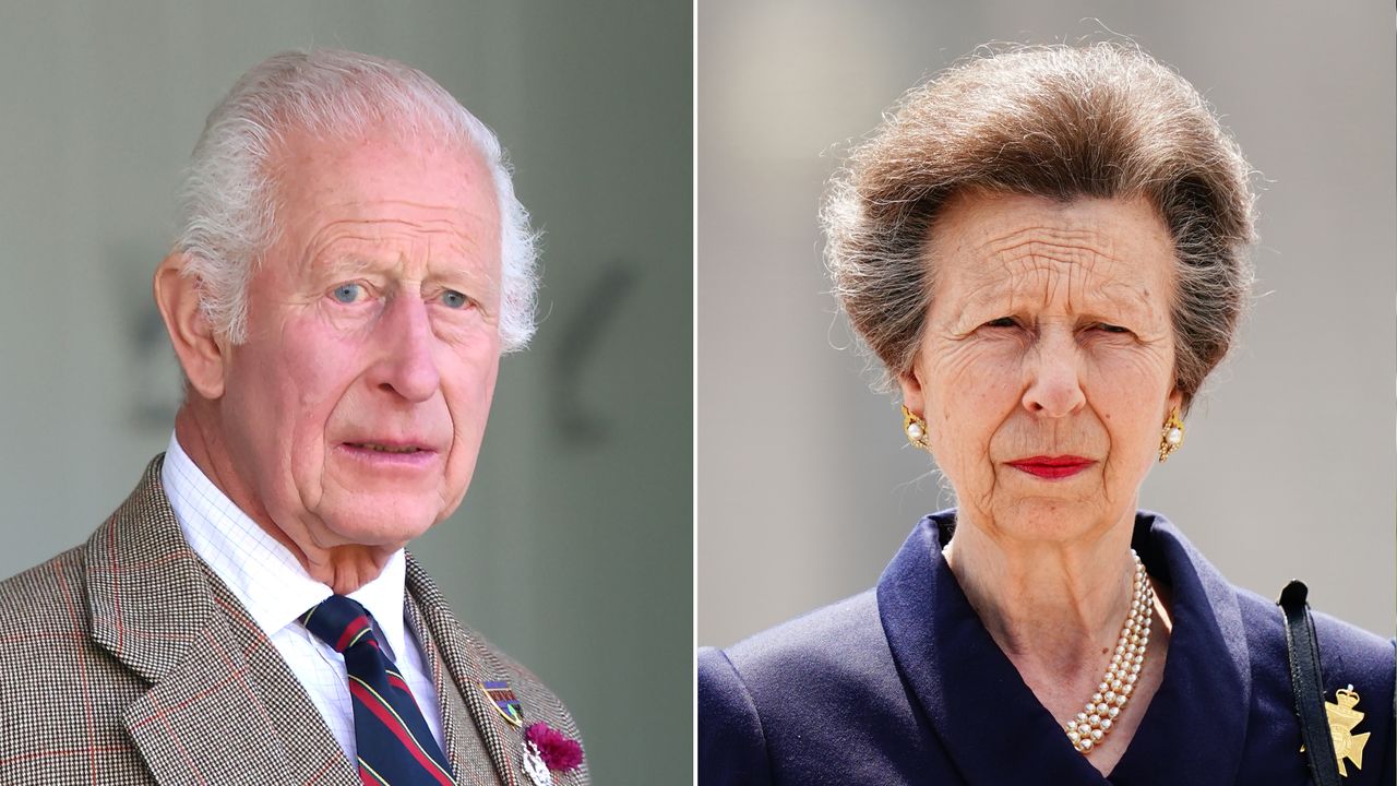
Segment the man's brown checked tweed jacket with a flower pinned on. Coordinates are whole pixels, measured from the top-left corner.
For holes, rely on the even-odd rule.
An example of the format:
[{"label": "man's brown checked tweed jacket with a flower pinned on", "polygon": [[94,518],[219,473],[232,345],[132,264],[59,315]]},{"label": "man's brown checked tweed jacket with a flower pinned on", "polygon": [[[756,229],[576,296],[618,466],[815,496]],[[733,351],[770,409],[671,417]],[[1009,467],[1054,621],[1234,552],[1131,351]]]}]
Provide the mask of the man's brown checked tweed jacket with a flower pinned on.
[{"label": "man's brown checked tweed jacket with a flower pinned on", "polygon": [[[0,582],[0,783],[359,783],[275,646],[184,541],[163,456],[87,544]],[[528,786],[525,724],[577,726],[538,678],[457,622],[408,557],[405,614],[437,685],[461,785]],[[587,765],[553,783],[588,783]]]}]

